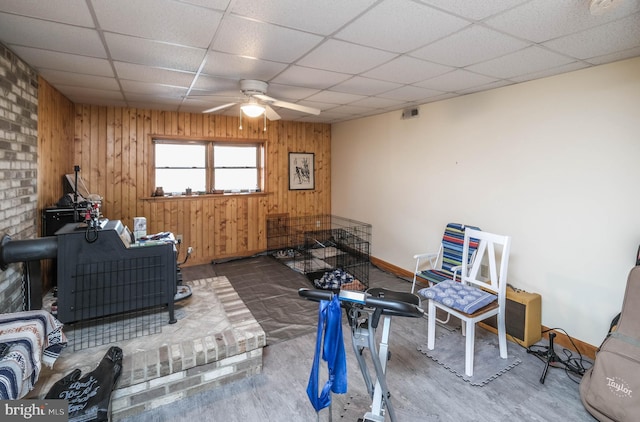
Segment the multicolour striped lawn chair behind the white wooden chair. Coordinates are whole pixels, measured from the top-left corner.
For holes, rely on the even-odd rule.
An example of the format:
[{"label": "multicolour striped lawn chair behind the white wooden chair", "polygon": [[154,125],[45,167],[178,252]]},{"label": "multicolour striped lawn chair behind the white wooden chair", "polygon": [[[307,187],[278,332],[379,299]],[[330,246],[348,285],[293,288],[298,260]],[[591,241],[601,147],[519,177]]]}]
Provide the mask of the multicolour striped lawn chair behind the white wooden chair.
[{"label": "multicolour striped lawn chair behind the white wooden chair", "polygon": [[[444,230],[440,248],[436,253],[423,253],[414,255],[416,269],[413,272],[413,285],[411,293],[415,292],[416,281],[433,286],[444,280],[459,280],[459,271],[462,268],[462,245],[464,243],[465,228],[480,230],[474,226],[449,223]],[[473,262],[478,249],[477,239],[471,239],[469,244],[469,256],[467,263]],[[425,268],[426,267],[426,268]]]}]

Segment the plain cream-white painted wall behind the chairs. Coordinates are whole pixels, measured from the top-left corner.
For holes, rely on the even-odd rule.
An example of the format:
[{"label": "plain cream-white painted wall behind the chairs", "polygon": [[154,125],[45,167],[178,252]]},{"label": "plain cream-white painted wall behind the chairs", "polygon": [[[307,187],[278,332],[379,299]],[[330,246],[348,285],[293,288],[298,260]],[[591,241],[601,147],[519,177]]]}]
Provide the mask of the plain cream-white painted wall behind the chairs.
[{"label": "plain cream-white painted wall behind the chairs", "polygon": [[[334,124],[332,213],[412,271],[447,222],[512,236],[509,281],[592,345],[640,244],[640,58]],[[640,304],[637,304],[640,306]]]}]

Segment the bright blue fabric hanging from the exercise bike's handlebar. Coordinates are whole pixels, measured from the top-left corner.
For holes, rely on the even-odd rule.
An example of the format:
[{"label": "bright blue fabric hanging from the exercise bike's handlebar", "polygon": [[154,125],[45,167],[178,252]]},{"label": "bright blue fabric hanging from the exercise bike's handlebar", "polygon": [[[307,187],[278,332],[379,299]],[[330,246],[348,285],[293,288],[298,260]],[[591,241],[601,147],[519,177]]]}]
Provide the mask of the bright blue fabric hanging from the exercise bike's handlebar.
[{"label": "bright blue fabric hanging from the exercise bike's handlebar", "polygon": [[[322,359],[327,362],[329,378],[318,396],[321,351]],[[347,392],[347,360],[342,337],[342,309],[338,295],[334,295],[331,301],[320,301],[318,311],[316,353],[307,384],[307,395],[316,412],[331,404],[331,392]]]}]

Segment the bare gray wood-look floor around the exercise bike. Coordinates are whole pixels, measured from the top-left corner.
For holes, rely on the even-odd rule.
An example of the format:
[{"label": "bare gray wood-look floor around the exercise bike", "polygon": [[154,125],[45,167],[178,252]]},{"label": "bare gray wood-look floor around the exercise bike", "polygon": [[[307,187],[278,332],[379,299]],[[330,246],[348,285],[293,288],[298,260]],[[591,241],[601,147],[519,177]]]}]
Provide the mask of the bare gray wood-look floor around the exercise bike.
[{"label": "bare gray wood-look floor around the exercise bike", "polygon": [[[256,261],[255,258],[243,263],[248,272],[252,271],[251,265],[262,264],[263,261]],[[185,270],[185,276],[195,277],[202,271],[212,271],[212,268],[202,266]],[[213,266],[215,275],[225,275],[224,270],[225,264]],[[234,265],[233,271],[236,274],[237,265]],[[268,273],[268,265],[263,265],[260,271]],[[406,281],[375,267],[371,268],[370,286],[410,290],[410,284]],[[288,299],[301,300],[299,297]],[[286,300],[282,298],[283,306],[286,306]],[[349,374],[348,392],[333,395],[331,411],[335,420],[355,422],[369,410],[371,400],[350,346],[351,334],[347,326],[344,335]],[[509,351],[516,354],[522,363],[485,386],[478,387],[458,378],[419,352],[417,346],[425,340],[426,320],[393,318],[387,382],[398,421],[595,420],[582,406],[578,384],[574,380],[563,370],[551,368],[545,383],[541,384],[539,379],[543,363],[514,343],[509,343]],[[316,334],[309,333],[270,345],[264,349],[261,374],[149,410],[128,421],[330,420],[328,409],[322,410],[319,418],[316,417],[306,395],[315,342]],[[561,354],[560,350],[557,352]]]}]

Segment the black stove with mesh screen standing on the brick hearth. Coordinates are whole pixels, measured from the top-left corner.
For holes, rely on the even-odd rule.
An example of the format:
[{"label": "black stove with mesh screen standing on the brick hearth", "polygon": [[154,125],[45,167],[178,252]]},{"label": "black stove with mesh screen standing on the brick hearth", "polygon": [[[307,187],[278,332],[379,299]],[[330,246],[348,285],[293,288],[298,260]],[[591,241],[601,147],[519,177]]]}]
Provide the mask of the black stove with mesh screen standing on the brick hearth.
[{"label": "black stove with mesh screen standing on the brick hearth", "polygon": [[63,323],[168,306],[175,322],[175,245],[130,243],[119,220],[102,229],[71,223],[58,239],[58,319]]}]

